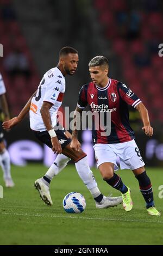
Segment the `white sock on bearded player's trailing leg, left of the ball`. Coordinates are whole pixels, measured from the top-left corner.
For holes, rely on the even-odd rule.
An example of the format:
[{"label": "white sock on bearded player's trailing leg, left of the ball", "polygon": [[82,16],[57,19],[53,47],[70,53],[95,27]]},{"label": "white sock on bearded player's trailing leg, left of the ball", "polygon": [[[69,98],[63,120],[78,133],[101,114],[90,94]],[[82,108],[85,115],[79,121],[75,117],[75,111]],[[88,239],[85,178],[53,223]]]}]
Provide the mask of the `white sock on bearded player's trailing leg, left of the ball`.
[{"label": "white sock on bearded player's trailing leg, left of the ball", "polygon": [[55,175],[57,175],[59,172],[61,172],[62,169],[64,169],[67,165],[67,163],[71,159],[63,154],[60,154],[56,157],[55,162],[49,167],[47,173],[45,176],[52,180]]}]

